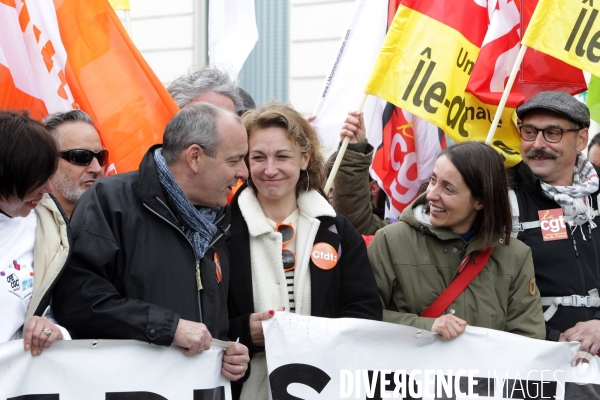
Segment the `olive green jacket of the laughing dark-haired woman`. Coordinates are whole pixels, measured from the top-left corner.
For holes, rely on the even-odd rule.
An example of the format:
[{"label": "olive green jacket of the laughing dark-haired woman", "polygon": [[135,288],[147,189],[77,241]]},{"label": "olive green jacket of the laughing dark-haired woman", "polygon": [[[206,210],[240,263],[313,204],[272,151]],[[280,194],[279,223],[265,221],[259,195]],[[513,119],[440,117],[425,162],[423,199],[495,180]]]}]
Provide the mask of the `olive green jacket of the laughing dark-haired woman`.
[{"label": "olive green jacket of the laughing dark-haired woman", "polygon": [[[425,195],[407,207],[400,222],[380,229],[367,248],[383,301],[383,320],[431,330],[434,318],[422,318],[427,307],[456,276],[479,240],[427,223]],[[445,313],[470,325],[544,339],[540,294],[535,285],[531,250],[519,240],[506,245],[500,235],[479,275]]]}]

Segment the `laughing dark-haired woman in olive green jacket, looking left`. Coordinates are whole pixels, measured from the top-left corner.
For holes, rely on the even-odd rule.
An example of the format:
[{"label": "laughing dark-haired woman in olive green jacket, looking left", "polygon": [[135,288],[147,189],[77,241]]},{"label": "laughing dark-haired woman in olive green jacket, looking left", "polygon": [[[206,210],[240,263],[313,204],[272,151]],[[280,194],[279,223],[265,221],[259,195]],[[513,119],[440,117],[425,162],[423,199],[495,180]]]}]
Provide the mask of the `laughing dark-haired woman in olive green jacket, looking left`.
[{"label": "laughing dark-haired woman in olive green jacket, looking left", "polygon": [[[510,238],[507,188],[502,158],[486,144],[463,142],[440,154],[427,191],[368,247],[384,321],[443,339],[460,335],[467,324],[544,339],[531,250]],[[461,264],[489,248],[485,268],[443,314],[421,316]]]}]

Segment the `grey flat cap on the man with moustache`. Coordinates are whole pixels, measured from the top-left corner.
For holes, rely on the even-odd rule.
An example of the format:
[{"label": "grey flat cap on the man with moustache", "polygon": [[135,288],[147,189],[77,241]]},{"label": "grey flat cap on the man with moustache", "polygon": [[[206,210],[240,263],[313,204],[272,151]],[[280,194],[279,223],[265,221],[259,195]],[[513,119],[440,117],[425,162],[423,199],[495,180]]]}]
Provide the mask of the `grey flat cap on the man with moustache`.
[{"label": "grey flat cap on the man with moustache", "polygon": [[565,92],[538,93],[517,108],[517,116],[523,119],[523,115],[536,108],[563,114],[582,128],[590,127],[590,110],[585,104]]}]

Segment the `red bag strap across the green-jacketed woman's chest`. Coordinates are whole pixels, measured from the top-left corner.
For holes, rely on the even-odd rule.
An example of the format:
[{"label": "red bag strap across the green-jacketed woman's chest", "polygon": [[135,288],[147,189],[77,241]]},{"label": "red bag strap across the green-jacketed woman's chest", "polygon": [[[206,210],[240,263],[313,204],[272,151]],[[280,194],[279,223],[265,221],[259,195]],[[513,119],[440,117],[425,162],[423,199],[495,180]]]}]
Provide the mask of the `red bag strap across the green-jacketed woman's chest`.
[{"label": "red bag strap across the green-jacketed woman's chest", "polygon": [[[437,318],[446,308],[452,304],[454,300],[469,286],[469,283],[475,279],[477,275],[485,268],[490,255],[494,251],[493,247],[485,249],[477,253],[473,258],[470,255],[466,256],[458,267],[458,275],[448,285],[446,289],[439,295],[437,299],[425,310],[421,317]],[[470,261],[473,260],[472,263]]]}]

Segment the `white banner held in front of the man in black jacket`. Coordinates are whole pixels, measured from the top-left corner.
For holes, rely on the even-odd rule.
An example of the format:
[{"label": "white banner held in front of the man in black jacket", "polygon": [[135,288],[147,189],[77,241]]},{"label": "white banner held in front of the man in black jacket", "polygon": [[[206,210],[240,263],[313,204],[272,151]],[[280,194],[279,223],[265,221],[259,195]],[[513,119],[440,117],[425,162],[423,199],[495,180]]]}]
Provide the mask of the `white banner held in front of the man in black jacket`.
[{"label": "white banner held in front of the man in black jacket", "polygon": [[0,398],[27,400],[225,400],[224,349],[184,355],[134,340],[59,340],[39,357],[23,341],[0,345]]}]

